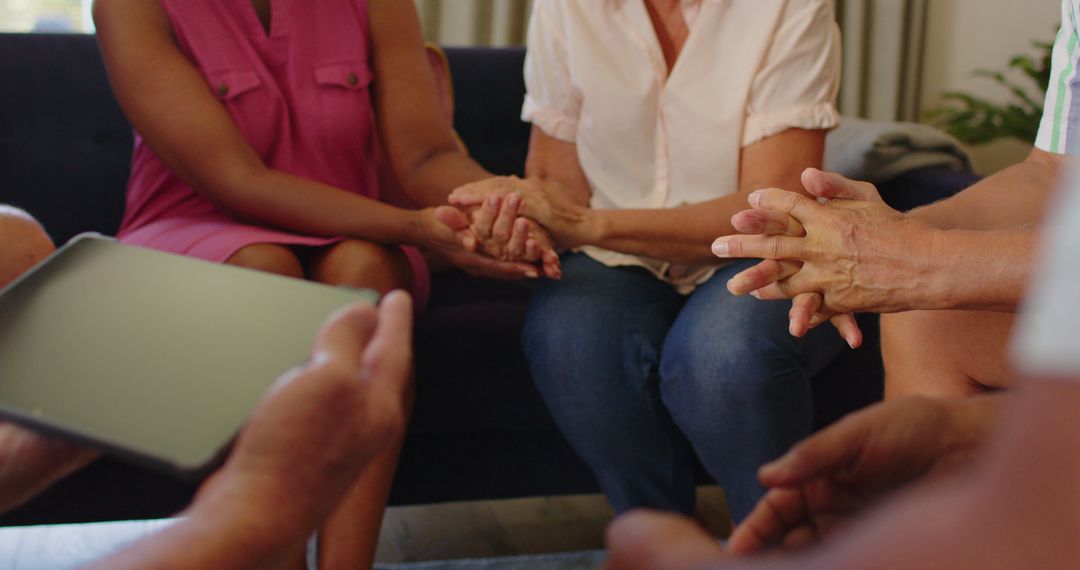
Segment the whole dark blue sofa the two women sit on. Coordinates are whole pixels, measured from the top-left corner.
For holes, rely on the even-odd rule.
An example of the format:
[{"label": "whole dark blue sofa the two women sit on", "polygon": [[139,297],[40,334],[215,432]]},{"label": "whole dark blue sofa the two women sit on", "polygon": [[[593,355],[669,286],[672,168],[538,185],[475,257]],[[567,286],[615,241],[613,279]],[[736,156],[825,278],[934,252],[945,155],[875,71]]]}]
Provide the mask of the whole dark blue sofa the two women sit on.
[{"label": "whole dark blue sofa the two women sit on", "polygon": [[[495,173],[522,173],[528,126],[522,50],[450,49],[456,127]],[[113,233],[123,211],[132,135],[87,36],[0,35],[0,203],[37,216],[57,244]],[[885,194],[907,208],[951,194],[972,175],[919,171]],[[417,399],[391,501],[591,492],[596,484],[532,388],[517,338],[529,286],[447,273],[435,279],[416,335]],[[818,423],[880,397],[877,322],[863,349],[814,379]],[[492,355],[495,355],[492,357]],[[40,524],[168,515],[193,485],[103,459],[0,517]]]}]

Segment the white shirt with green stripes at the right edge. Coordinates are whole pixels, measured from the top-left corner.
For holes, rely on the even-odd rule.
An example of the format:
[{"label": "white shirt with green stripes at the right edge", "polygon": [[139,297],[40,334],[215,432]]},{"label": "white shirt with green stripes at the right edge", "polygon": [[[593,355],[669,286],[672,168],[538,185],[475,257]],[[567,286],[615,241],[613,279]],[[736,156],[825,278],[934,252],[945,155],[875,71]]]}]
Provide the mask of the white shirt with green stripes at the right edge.
[{"label": "white shirt with green stripes at the right edge", "polygon": [[1054,42],[1050,85],[1035,146],[1056,154],[1080,149],[1080,0],[1062,0],[1062,29]]}]

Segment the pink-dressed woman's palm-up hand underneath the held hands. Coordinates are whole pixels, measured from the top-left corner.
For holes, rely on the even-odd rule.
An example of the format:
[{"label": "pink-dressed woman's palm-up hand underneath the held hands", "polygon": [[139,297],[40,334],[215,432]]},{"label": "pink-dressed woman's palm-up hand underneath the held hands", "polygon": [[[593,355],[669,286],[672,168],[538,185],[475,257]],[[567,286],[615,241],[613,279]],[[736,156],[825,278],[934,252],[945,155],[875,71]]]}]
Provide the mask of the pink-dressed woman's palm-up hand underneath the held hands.
[{"label": "pink-dressed woman's palm-up hand underneath the held hands", "polygon": [[421,247],[445,257],[465,273],[495,279],[537,279],[540,272],[532,263],[503,261],[476,253],[476,238],[470,219],[453,206],[438,206],[417,212]]}]

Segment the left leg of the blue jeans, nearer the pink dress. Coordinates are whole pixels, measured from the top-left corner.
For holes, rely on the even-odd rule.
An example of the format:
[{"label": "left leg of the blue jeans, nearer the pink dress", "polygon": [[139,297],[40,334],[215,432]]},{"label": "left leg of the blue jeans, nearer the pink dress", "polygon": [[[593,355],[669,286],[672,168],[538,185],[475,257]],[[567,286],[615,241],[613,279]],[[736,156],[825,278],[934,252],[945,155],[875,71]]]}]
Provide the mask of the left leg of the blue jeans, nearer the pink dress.
[{"label": "left leg of the blue jeans, nearer the pink dress", "polygon": [[523,348],[552,418],[616,512],[693,510],[693,456],[660,397],[660,350],[683,298],[639,268],[583,255],[534,294]]}]

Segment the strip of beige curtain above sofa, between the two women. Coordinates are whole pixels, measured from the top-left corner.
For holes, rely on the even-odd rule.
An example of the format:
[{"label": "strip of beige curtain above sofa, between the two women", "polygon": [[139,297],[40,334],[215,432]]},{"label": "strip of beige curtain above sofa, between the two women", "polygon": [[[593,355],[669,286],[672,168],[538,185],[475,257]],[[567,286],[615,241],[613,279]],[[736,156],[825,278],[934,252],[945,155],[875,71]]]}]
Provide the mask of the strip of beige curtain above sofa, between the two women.
[{"label": "strip of beige curtain above sofa, between the two women", "polygon": [[532,0],[416,0],[416,5],[429,41],[524,45]]}]

